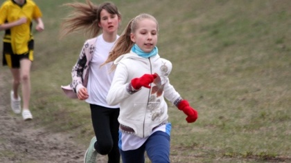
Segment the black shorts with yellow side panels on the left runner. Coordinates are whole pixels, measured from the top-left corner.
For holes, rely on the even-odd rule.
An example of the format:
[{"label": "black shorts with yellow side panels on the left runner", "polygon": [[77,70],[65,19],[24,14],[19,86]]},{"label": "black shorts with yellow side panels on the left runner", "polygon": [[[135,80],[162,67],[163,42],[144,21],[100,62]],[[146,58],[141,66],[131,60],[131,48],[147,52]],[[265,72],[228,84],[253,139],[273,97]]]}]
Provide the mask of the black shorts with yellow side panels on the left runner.
[{"label": "black shorts with yellow side panels on the left runner", "polygon": [[12,51],[12,46],[8,42],[3,42],[3,66],[8,66],[10,68],[20,68],[21,59],[29,59],[33,61],[33,46],[34,41],[31,39],[28,42],[28,52],[17,55]]}]

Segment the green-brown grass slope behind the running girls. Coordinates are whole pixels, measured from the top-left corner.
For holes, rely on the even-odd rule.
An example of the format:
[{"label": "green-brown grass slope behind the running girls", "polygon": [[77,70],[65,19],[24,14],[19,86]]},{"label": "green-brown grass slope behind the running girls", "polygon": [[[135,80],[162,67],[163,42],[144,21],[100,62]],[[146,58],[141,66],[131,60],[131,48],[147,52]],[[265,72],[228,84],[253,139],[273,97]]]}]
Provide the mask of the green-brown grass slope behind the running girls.
[{"label": "green-brown grass slope behind the running girls", "polygon": [[[35,1],[46,26],[35,34],[35,121],[87,144],[94,134],[89,106],[60,90],[87,38],[58,39],[68,11],[60,5],[69,1]],[[119,33],[141,12],[157,18],[159,55],[173,62],[171,84],[199,112],[187,124],[169,105],[172,162],[291,161],[291,1],[114,3],[123,15]]]}]

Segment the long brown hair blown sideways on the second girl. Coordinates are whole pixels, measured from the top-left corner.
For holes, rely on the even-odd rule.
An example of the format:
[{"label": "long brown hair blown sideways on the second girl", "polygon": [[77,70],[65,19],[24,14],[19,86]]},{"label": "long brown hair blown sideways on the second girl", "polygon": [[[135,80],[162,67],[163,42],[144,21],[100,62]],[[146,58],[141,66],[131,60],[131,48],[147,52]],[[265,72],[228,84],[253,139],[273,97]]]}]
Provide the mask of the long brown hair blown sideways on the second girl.
[{"label": "long brown hair blown sideways on the second girl", "polygon": [[121,13],[112,2],[105,2],[96,6],[90,0],[86,0],[86,3],[65,3],[63,6],[72,7],[75,10],[64,18],[61,24],[60,38],[78,30],[83,30],[85,35],[90,38],[96,37],[101,30],[98,23],[100,22],[100,12],[103,9],[121,18]]}]

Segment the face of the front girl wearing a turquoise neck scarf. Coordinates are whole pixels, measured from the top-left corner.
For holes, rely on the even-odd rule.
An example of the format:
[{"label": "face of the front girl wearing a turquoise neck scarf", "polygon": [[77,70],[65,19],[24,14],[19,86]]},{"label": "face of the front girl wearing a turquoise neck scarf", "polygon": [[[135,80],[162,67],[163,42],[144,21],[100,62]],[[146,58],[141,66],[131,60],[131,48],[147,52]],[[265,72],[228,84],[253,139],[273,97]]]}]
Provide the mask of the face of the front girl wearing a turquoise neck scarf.
[{"label": "face of the front girl wearing a turquoise neck scarf", "polygon": [[135,32],[130,34],[130,39],[143,52],[151,52],[157,45],[157,23],[152,19],[142,19]]}]

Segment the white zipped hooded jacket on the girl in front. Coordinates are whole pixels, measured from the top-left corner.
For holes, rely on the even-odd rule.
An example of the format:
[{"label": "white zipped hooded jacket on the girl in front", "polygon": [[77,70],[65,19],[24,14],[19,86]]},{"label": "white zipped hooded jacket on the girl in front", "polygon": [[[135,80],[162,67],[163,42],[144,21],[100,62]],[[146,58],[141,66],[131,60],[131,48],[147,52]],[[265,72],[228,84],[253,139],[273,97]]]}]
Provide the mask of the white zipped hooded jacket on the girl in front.
[{"label": "white zipped hooded jacket on the girl in front", "polygon": [[[121,125],[132,128],[138,137],[148,137],[155,127],[168,121],[168,106],[164,97],[172,104],[181,99],[168,79],[172,64],[159,55],[143,58],[134,52],[121,55],[114,64],[117,66],[107,103],[120,104],[118,121]],[[141,87],[141,90],[132,91],[132,79],[155,73],[158,77],[151,88]]]}]

